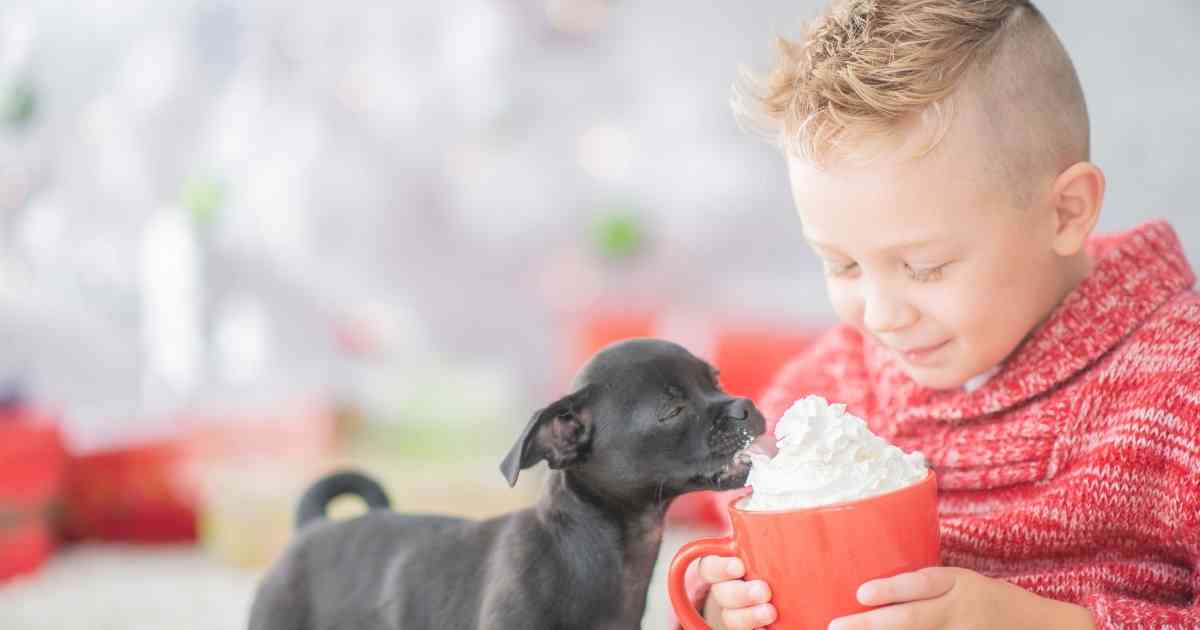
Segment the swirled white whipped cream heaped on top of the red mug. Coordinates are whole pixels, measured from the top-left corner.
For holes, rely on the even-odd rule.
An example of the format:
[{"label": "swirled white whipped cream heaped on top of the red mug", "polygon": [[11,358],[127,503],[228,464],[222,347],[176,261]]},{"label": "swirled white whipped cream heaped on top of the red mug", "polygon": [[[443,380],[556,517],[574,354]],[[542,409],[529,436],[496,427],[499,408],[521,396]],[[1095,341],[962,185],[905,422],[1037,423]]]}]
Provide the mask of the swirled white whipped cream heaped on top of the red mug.
[{"label": "swirled white whipped cream heaped on top of the red mug", "polygon": [[862,499],[898,490],[925,478],[925,457],[905,454],[871,433],[866,422],[846,413],[845,404],[829,404],[808,396],[775,425],[779,452],[749,451],[746,485],[754,492],[744,510],[814,508]]}]

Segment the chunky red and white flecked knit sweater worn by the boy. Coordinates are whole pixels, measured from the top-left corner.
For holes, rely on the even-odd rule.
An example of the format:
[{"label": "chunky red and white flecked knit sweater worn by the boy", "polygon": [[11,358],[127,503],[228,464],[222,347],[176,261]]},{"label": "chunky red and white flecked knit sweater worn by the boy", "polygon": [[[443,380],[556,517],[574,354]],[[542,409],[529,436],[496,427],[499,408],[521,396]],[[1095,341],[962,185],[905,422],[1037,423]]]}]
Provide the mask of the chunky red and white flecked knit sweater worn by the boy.
[{"label": "chunky red and white flecked knit sweater worn by the boy", "polygon": [[1091,244],[1092,274],[982,388],[913,383],[839,326],[762,397],[848,403],[938,474],[942,560],[1086,606],[1098,628],[1200,628],[1200,296],[1175,232]]}]

